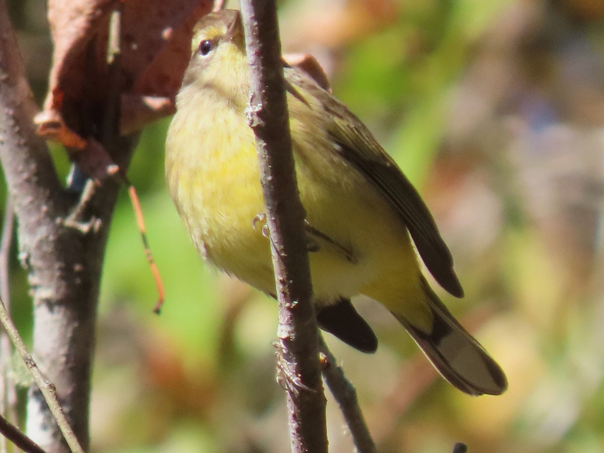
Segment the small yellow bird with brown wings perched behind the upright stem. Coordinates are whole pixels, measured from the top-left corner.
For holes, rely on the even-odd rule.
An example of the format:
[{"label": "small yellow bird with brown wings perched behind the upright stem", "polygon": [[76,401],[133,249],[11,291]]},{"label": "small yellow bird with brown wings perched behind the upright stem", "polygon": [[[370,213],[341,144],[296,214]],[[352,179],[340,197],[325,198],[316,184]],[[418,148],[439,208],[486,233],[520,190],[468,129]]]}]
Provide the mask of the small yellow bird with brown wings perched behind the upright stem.
[{"label": "small yellow bird with brown wings perched behind the upright stem", "polygon": [[[367,127],[313,79],[284,65],[294,160],[306,210],[317,320],[362,352],[377,339],[350,298],[382,303],[434,367],[460,390],[501,394],[506,376],[453,318],[422,275],[456,297],[463,290],[449,249],[417,191]],[[249,68],[240,14],[208,14],[166,142],[168,187],[204,258],[275,294],[254,133],[247,124]],[[254,220],[255,219],[255,220]]]}]

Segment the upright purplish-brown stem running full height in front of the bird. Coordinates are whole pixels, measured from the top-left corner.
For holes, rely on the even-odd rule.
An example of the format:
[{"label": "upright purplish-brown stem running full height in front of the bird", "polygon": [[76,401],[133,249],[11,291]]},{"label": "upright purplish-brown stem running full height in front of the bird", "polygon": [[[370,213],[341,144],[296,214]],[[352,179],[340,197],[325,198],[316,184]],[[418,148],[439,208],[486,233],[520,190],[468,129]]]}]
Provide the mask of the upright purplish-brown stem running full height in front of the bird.
[{"label": "upright purplish-brown stem running full height in front of the bird", "polygon": [[321,453],[327,451],[325,397],[304,240],[305,214],[291,152],[277,11],[272,0],[246,0],[241,6],[251,66],[248,122],[260,157],[279,302],[280,367],[286,376],[294,377],[292,385],[285,386],[292,451]]}]

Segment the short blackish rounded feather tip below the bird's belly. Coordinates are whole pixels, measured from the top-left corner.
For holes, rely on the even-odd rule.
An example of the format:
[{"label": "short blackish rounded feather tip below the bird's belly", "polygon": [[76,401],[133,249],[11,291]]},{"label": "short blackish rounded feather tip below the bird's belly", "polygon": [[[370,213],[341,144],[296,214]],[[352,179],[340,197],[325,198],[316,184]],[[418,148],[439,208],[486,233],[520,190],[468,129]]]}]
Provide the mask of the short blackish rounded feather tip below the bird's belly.
[{"label": "short blackish rounded feather tip below the bird's belly", "polygon": [[316,321],[321,329],[333,333],[353,348],[366,353],[376,352],[377,338],[350,300],[317,306]]}]

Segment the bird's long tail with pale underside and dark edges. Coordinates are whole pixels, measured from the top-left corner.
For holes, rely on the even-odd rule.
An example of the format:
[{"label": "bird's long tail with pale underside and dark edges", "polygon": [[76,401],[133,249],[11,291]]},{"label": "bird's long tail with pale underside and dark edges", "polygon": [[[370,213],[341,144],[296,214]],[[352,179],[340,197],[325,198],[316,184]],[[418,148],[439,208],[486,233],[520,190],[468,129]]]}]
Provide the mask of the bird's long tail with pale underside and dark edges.
[{"label": "bird's long tail with pale underside and dark edges", "polygon": [[413,337],[432,365],[452,385],[467,394],[499,395],[507,389],[506,374],[472,335],[466,332],[423,280],[432,329],[425,332],[403,316],[397,320]]}]

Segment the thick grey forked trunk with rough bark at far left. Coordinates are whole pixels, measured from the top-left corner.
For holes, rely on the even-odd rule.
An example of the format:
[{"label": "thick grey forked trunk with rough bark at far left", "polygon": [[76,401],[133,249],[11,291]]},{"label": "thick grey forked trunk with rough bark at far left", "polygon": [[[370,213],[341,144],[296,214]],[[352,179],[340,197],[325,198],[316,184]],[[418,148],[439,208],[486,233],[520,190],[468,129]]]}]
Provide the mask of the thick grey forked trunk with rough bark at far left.
[{"label": "thick grey forked trunk with rough bark at far left", "polygon": [[[91,187],[85,200],[65,190],[34,130],[36,111],[5,0],[0,0],[0,160],[33,294],[33,356],[88,449],[101,264],[119,185],[107,179]],[[122,155],[131,149],[128,141],[118,139],[104,145],[110,152],[121,149]],[[69,217],[72,212],[78,215]],[[69,451],[37,388],[30,390],[27,433],[49,453]]]}]

